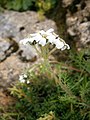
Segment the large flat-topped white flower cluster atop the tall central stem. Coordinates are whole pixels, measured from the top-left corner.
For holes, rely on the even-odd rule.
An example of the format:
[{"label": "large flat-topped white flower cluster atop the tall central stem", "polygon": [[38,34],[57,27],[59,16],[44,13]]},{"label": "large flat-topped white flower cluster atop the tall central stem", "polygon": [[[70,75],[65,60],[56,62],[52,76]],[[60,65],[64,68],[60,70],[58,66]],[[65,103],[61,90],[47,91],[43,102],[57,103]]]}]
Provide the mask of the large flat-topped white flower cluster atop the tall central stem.
[{"label": "large flat-topped white flower cluster atop the tall central stem", "polygon": [[38,43],[41,46],[45,46],[48,43],[55,45],[57,49],[65,50],[70,49],[69,45],[65,43],[56,33],[54,29],[49,29],[47,31],[41,30],[37,33],[30,34],[28,38],[20,41],[20,44],[26,45],[27,43]]}]

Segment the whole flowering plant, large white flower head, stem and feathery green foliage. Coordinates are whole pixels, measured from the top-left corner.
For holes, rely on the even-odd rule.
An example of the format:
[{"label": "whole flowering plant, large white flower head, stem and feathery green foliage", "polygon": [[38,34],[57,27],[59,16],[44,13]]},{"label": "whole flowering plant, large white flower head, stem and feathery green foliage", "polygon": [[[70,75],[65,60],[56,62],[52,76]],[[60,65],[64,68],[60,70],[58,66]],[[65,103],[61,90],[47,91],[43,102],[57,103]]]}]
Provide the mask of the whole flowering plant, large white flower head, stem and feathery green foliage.
[{"label": "whole flowering plant, large white flower head, stem and feathery green foliage", "polygon": [[[3,119],[89,120],[90,62],[84,59],[84,51],[68,56],[72,66],[50,61],[48,57],[54,50],[70,48],[53,29],[30,34],[20,41],[24,45],[29,43],[35,46],[43,60],[20,75],[19,84],[10,88],[11,94],[18,99],[15,99],[14,109],[8,108],[9,114],[5,111]],[[52,50],[49,45],[53,46]]]}]

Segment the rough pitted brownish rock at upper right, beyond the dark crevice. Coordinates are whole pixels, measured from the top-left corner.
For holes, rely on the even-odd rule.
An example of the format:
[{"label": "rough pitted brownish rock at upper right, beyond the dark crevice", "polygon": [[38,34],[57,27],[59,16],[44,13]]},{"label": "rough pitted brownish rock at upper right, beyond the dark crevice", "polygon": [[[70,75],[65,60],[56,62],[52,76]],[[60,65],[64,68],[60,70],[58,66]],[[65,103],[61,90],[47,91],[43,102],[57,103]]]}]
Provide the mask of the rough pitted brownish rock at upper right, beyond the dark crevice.
[{"label": "rough pitted brownish rock at upper right, beyond the dark crevice", "polygon": [[68,34],[77,41],[77,47],[90,44],[90,0],[63,0],[67,10],[66,25]]}]

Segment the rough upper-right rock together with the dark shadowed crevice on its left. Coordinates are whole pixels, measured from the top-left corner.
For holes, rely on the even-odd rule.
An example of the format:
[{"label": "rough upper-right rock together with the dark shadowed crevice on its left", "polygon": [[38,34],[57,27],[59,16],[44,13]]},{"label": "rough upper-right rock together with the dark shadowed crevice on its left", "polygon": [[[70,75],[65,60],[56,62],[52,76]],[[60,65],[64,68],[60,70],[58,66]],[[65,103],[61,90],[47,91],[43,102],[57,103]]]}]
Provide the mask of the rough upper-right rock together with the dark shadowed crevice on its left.
[{"label": "rough upper-right rock together with the dark shadowed crevice on its left", "polygon": [[62,36],[77,48],[90,47],[90,0],[60,0],[54,15]]}]

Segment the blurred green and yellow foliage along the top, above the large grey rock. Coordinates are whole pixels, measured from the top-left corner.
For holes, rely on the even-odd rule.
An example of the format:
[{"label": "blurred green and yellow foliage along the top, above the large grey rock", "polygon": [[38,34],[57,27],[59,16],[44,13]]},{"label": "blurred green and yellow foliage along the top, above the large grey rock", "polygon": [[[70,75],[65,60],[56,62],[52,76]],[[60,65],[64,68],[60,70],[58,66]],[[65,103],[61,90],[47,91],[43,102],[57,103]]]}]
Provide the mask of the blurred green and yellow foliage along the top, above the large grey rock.
[{"label": "blurred green and yellow foliage along the top, above the large grey rock", "polygon": [[9,10],[36,10],[46,12],[55,7],[57,0],[0,0],[0,6]]}]

